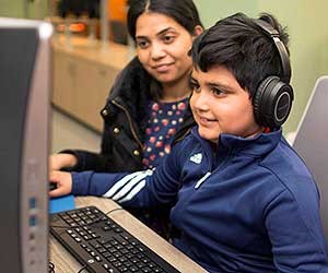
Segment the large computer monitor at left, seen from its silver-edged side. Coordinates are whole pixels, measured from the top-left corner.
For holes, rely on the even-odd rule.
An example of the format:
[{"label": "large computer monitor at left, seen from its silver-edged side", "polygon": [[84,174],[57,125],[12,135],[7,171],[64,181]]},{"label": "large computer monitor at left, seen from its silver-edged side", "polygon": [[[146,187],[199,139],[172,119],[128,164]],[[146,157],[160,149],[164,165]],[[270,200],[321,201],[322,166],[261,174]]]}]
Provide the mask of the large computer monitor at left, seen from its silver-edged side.
[{"label": "large computer monitor at left, seen from its silver-edged side", "polygon": [[0,17],[0,268],[48,271],[51,25]]}]

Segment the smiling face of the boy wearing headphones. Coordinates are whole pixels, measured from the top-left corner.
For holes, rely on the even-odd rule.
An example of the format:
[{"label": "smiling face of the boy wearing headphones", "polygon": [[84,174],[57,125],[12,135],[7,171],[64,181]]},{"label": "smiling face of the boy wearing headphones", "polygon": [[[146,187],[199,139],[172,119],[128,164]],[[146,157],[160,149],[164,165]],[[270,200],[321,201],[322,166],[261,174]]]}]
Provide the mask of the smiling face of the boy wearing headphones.
[{"label": "smiling face of the boy wearing headphones", "polygon": [[227,69],[194,69],[190,83],[190,107],[203,139],[218,143],[221,133],[248,138],[262,132],[255,121],[249,94]]}]

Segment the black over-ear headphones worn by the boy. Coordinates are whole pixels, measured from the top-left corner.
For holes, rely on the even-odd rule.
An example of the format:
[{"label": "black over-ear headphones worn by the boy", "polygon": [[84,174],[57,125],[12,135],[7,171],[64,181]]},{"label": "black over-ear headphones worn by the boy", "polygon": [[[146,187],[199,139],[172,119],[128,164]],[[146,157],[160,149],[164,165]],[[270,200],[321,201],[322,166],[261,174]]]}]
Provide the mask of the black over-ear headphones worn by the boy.
[{"label": "black over-ear headphones worn by the boy", "polygon": [[259,124],[276,129],[288,119],[294,99],[290,85],[290,57],[277,29],[263,20],[255,20],[255,23],[274,41],[281,60],[282,78],[270,75],[260,82],[253,98],[254,115]]}]

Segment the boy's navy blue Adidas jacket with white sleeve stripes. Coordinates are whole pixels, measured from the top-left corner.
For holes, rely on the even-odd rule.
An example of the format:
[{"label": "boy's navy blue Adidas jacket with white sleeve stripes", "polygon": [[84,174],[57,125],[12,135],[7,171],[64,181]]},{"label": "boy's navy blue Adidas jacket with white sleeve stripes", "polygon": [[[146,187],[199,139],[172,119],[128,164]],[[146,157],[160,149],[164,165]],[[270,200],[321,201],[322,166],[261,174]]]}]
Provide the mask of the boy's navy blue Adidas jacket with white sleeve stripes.
[{"label": "boy's navy blue Adidas jacket with white sleeve stripes", "polygon": [[209,272],[328,272],[318,191],[281,131],[221,134],[215,150],[194,128],[154,171],[73,173],[73,193],[176,201],[174,245]]}]

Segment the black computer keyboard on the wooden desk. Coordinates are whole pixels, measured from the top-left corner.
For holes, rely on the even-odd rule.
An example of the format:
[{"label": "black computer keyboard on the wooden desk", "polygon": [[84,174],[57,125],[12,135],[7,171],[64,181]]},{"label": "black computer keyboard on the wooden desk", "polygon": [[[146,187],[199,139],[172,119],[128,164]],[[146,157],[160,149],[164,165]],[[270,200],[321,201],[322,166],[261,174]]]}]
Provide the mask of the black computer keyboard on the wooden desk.
[{"label": "black computer keyboard on the wooden desk", "polygon": [[90,272],[179,272],[96,206],[51,214],[50,233]]}]

